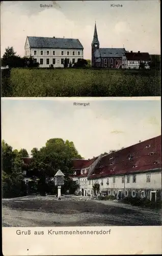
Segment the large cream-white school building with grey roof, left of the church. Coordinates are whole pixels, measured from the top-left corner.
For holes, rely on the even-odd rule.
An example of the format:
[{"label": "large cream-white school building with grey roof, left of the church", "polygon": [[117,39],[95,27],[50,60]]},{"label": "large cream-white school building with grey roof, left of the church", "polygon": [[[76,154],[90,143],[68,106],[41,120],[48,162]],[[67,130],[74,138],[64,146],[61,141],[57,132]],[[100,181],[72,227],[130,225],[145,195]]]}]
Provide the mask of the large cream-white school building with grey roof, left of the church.
[{"label": "large cream-white school building with grey roof, left of the church", "polygon": [[34,57],[41,68],[63,68],[65,58],[73,65],[84,57],[82,44],[73,38],[27,36],[24,49],[25,57]]}]

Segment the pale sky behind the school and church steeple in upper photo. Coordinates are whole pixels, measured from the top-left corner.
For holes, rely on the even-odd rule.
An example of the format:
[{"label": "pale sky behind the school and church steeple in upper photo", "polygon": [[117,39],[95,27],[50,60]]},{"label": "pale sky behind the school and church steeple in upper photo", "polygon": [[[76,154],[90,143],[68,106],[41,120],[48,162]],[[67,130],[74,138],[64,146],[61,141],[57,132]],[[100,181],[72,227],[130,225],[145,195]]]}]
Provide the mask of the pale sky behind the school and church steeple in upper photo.
[{"label": "pale sky behind the school and church steeple in upper photo", "polygon": [[[40,7],[40,5],[52,7]],[[120,4],[122,7],[111,7]],[[26,36],[78,38],[91,59],[96,20],[101,48],[160,54],[160,1],[2,1],[1,56],[24,55]]]}]

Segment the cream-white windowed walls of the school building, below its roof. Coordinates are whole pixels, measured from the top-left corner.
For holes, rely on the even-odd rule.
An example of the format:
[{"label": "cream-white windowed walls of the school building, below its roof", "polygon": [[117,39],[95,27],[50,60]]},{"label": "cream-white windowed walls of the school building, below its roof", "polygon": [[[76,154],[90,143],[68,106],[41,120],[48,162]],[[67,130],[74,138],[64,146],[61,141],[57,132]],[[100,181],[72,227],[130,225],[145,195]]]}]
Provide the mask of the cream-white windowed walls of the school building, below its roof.
[{"label": "cream-white windowed walls of the school building, below its roof", "polygon": [[25,43],[25,57],[33,56],[36,62],[39,62],[40,68],[48,68],[53,65],[54,68],[63,68],[64,59],[67,58],[72,65],[77,59],[83,58],[82,49],[51,49],[51,48],[35,48],[31,49],[28,39]]}]

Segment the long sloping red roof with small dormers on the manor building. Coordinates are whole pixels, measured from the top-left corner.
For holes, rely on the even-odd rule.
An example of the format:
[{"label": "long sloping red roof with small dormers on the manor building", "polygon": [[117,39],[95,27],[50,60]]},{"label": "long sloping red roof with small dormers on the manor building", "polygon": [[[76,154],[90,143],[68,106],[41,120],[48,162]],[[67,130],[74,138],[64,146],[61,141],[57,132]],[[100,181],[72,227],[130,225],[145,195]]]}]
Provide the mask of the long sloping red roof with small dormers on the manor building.
[{"label": "long sloping red roof with small dormers on the manor building", "polygon": [[156,168],[161,168],[161,136],[103,156],[89,178],[144,172]]}]

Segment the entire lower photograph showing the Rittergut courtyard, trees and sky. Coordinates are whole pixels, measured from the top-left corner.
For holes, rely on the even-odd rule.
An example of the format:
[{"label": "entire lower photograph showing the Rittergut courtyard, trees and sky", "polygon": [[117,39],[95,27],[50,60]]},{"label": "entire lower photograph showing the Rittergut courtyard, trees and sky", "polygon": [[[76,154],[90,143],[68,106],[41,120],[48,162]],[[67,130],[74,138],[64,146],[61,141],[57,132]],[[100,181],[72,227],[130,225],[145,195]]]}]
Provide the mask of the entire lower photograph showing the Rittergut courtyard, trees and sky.
[{"label": "entire lower photograph showing the Rittergut courtyard, trees and sky", "polygon": [[160,134],[159,97],[2,98],[3,227],[161,225]]}]

